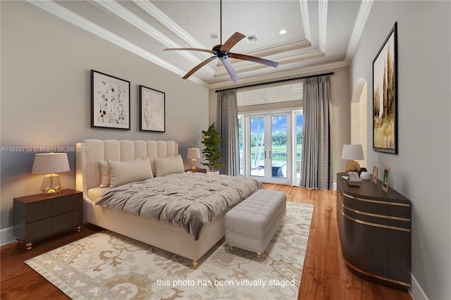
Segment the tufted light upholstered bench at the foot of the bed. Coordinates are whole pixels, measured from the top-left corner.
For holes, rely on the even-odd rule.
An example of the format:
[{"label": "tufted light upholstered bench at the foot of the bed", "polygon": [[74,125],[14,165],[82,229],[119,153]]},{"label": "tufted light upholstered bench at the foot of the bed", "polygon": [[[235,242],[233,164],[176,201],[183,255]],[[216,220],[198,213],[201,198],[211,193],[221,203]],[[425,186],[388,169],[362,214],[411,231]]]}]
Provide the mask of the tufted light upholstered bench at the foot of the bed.
[{"label": "tufted light upholstered bench at the foot of the bed", "polygon": [[259,189],[226,213],[226,244],[261,253],[286,213],[284,192]]}]

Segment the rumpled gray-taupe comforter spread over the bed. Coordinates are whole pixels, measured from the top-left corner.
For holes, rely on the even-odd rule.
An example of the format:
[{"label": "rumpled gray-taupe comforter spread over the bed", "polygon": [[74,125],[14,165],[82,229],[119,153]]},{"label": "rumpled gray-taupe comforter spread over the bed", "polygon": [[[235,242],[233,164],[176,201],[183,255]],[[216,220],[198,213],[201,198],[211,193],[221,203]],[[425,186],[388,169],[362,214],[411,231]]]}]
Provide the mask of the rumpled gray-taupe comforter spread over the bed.
[{"label": "rumpled gray-taupe comforter spread over the bed", "polygon": [[180,225],[197,240],[202,226],[261,188],[245,177],[178,173],[111,188],[96,204]]}]

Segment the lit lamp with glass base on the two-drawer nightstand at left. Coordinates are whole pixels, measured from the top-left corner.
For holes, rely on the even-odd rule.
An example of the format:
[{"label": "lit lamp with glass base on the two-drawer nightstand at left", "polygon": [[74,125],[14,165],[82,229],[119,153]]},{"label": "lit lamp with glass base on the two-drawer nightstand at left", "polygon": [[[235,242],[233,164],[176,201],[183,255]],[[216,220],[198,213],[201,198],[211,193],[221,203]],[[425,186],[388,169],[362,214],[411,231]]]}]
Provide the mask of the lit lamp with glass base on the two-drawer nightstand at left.
[{"label": "lit lamp with glass base on the two-drawer nightstand at left", "polygon": [[70,170],[68,154],[66,153],[47,153],[35,154],[32,174],[47,174],[42,181],[41,191],[44,194],[54,194],[61,190],[61,180],[55,173],[67,172]]}]

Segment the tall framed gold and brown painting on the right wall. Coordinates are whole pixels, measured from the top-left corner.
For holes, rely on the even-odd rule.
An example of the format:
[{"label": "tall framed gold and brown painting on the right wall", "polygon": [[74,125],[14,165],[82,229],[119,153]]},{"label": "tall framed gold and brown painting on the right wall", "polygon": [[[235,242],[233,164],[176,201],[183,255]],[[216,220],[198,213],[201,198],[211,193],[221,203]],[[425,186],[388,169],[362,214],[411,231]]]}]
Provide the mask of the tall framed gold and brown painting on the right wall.
[{"label": "tall framed gold and brown painting on the right wall", "polygon": [[397,154],[397,23],[373,60],[373,150]]}]

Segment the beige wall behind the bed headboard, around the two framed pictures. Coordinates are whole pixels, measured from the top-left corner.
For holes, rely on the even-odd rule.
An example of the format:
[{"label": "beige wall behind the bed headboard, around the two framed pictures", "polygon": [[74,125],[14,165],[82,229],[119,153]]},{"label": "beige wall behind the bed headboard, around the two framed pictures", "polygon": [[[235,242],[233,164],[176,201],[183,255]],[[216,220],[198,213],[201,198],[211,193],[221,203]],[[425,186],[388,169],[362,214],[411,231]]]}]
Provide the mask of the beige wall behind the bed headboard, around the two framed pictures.
[{"label": "beige wall behind the bed headboard, around the two framed pictures", "polygon": [[[130,81],[130,130],[90,127],[90,69]],[[166,93],[166,132],[139,131],[139,85]],[[204,87],[25,1],[1,1],[2,147],[161,139],[179,142],[186,156],[190,146],[202,146],[208,102]],[[43,177],[30,174],[34,155],[1,152],[2,229],[13,225],[13,197],[39,192]],[[71,171],[62,174],[63,183],[75,188],[75,153],[68,157]]]}]

